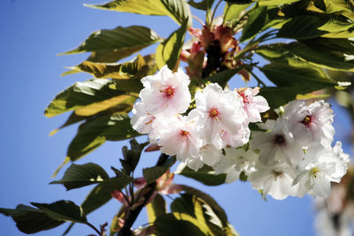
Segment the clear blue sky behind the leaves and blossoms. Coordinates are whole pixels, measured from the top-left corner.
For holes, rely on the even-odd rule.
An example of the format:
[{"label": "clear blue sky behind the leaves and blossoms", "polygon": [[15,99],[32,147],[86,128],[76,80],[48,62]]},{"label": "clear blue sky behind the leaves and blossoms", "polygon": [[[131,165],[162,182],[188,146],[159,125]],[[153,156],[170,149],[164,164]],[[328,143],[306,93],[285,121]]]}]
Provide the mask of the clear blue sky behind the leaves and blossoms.
[{"label": "clear blue sky behind the leaves and blossoms", "polygon": [[[81,204],[92,187],[65,191],[50,186],[52,173],[65,158],[66,148],[76,133],[70,126],[49,137],[52,129],[62,125],[67,115],[45,118],[43,110],[58,94],[77,80],[87,80],[87,74],[60,77],[64,66],[77,65],[87,55],[57,57],[59,52],[78,46],[90,33],[102,28],[142,25],[154,29],[162,37],[178,26],[167,17],[149,17],[114,11],[99,11],[82,4],[98,4],[96,0],[2,0],[0,7],[0,179],[2,188],[0,207],[15,208],[18,203],[55,202],[61,199]],[[199,17],[200,11],[197,12]],[[194,23],[196,27],[197,22]],[[151,46],[144,50],[151,52]],[[242,86],[241,79],[233,85]],[[335,107],[335,110],[338,110]],[[342,111],[337,115],[336,132],[340,140],[350,126]],[[85,156],[77,164],[94,162],[110,173],[111,165],[119,167],[120,148],[126,142],[107,142]],[[349,151],[347,145],[346,151]],[[152,166],[158,154],[142,156],[143,167]],[[68,167],[65,166],[65,169]],[[59,179],[63,172],[59,172]],[[136,173],[139,173],[139,170]],[[141,173],[141,172],[140,172]],[[314,235],[312,197],[289,197],[265,202],[249,183],[235,182],[220,187],[204,187],[190,179],[177,178],[177,183],[200,187],[211,194],[226,209],[229,222],[243,236],[307,236]],[[119,202],[111,201],[104,208],[89,215],[93,225],[111,222],[119,209]],[[138,224],[147,222],[143,212]],[[64,226],[35,235],[61,235]],[[0,234],[25,235],[17,230],[9,217],[0,216]],[[86,225],[76,225],[69,235],[93,233]]]}]

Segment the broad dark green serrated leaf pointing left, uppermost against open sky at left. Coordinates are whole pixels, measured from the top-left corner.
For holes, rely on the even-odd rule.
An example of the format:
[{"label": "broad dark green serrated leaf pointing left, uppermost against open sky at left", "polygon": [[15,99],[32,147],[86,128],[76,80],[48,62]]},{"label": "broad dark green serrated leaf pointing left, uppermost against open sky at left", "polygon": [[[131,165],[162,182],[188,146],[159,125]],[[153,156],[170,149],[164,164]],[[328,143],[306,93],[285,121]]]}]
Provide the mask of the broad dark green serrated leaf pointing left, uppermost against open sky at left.
[{"label": "broad dark green serrated leaf pointing left, uppermost against open sky at left", "polygon": [[[73,49],[60,55],[92,51],[96,53],[114,53],[115,60],[127,57],[155,42],[161,38],[147,27],[116,27],[112,30],[103,29],[89,35],[89,38],[82,42],[77,49]],[[118,57],[120,55],[120,57]],[[89,58],[89,61],[93,61]],[[95,60],[94,60],[95,61]]]}]

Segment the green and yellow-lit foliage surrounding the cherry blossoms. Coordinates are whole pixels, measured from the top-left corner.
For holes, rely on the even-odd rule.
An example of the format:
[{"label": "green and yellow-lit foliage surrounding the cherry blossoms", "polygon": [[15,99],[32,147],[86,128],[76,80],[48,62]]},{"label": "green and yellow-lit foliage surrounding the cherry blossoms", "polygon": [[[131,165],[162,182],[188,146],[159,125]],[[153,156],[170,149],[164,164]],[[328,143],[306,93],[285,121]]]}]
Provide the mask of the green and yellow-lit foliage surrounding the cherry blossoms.
[{"label": "green and yellow-lit foliage surrounding the cherry blossoms", "polygon": [[[186,32],[193,24],[190,7],[205,11],[204,27],[210,29],[215,13],[212,6],[219,6],[220,2],[114,0],[107,4],[87,5],[109,11],[168,16],[180,27],[165,39],[152,29],[142,26],[98,30],[89,35],[77,49],[63,53],[90,52],[89,58],[80,65],[70,67],[63,75],[87,72],[95,78],[66,88],[44,112],[49,118],[72,112],[65,124],[51,134],[65,126],[80,123],[78,132],[67,149],[64,164],[87,155],[105,141],[122,141],[140,135],[130,125],[128,112],[133,109],[133,104],[139,97],[141,79],[155,74],[163,65],[168,65],[170,69],[178,67]],[[353,71],[354,47],[350,38],[354,37],[354,5],[350,1],[225,2],[223,24],[234,32],[242,46],[234,60],[242,61],[242,69],[258,80],[262,87],[260,93],[266,97],[272,109],[296,98],[313,98],[316,95],[310,93],[319,89],[339,88],[336,78],[329,75],[335,73],[328,72]],[[159,43],[155,53],[137,55],[131,61],[119,62],[154,43]],[[263,57],[268,63],[261,66],[253,59],[255,55]],[[206,66],[208,64],[209,61]],[[227,81],[240,69],[241,67],[217,68],[203,78],[192,78],[197,82],[192,81],[191,84],[211,81],[225,87]],[[257,70],[263,72],[273,86],[267,87],[256,75]],[[139,144],[133,140],[130,150],[123,148],[124,159],[120,160],[122,169],[112,168],[116,174],[113,178],[96,164],[72,164],[62,179],[52,182],[64,185],[67,190],[96,184],[80,207],[73,202],[59,201],[51,204],[32,203],[36,208],[19,205],[16,209],[0,209],[0,212],[12,217],[19,230],[27,233],[48,230],[65,221],[72,222],[72,225],[81,223],[94,227],[89,224],[86,215],[108,202],[113,190],[121,190],[127,186],[133,189],[133,173],[146,145],[147,143]],[[145,193],[144,204],[157,191],[156,179],[173,163],[171,156],[164,160],[160,158],[156,166],[143,170],[147,182],[146,193],[150,193]],[[208,167],[197,172],[180,168],[178,173],[206,185],[219,185],[225,181],[225,175],[213,175]],[[181,235],[185,232],[189,235],[237,234],[228,224],[226,214],[219,205],[209,195],[192,187],[183,186],[183,194],[172,202],[170,209],[171,212],[167,213],[165,200],[159,194],[148,204],[150,224],[157,235]],[[137,209],[128,212],[119,210],[112,222],[111,235],[119,234],[116,230],[119,218],[124,218],[127,222],[129,216],[139,212]],[[125,225],[127,226],[131,225]],[[103,229],[96,232],[105,235]]]}]

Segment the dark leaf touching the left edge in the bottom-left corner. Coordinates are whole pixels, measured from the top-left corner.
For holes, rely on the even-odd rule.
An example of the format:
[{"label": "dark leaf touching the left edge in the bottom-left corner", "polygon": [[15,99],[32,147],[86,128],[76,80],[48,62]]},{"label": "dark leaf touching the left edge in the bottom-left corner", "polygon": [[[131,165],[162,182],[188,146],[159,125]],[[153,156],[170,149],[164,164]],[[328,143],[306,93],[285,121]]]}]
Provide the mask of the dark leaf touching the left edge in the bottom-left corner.
[{"label": "dark leaf touching the left edge in the bottom-left corner", "polygon": [[0,208],[0,213],[7,217],[12,217],[20,232],[35,233],[50,230],[62,225],[64,221],[55,220],[43,213],[40,209],[35,209],[19,204],[16,209]]}]

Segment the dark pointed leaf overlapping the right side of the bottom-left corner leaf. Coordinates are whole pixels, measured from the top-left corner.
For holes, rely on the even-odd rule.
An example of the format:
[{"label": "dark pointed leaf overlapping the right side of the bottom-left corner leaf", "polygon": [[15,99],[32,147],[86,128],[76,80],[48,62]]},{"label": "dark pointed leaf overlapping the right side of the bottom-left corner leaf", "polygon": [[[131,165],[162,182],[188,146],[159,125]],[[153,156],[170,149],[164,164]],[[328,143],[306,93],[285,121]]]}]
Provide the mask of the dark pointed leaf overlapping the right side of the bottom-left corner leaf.
[{"label": "dark pointed leaf overlapping the right side of the bottom-left corner leaf", "polygon": [[31,202],[32,205],[42,210],[49,217],[56,220],[64,220],[86,224],[88,219],[85,213],[75,203],[71,201],[58,201],[50,204],[47,203],[35,203]]}]

